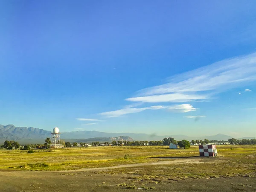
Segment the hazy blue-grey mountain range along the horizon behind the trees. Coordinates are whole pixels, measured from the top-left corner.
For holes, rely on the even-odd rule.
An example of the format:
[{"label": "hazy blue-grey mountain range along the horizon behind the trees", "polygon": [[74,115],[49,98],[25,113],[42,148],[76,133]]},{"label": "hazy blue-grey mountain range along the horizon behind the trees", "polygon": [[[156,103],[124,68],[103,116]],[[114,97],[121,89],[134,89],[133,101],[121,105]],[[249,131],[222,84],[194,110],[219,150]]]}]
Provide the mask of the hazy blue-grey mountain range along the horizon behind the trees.
[{"label": "hazy blue-grey mountain range along the horizon behind the trees", "polygon": [[[45,131],[43,129],[33,128],[33,127],[15,127],[14,125],[0,125],[0,143],[3,143],[5,140],[15,140],[21,144],[26,143],[44,143],[46,137],[51,137],[51,131]],[[123,135],[123,136],[120,136]],[[186,135],[163,135],[158,136],[154,134],[136,134],[136,133],[106,133],[99,131],[71,131],[71,132],[61,132],[61,139],[65,141],[80,141],[90,139],[102,140],[105,138],[106,141],[114,140],[113,138],[122,137],[123,140],[163,140],[165,137],[173,137],[175,140],[223,140],[227,141],[232,138],[231,136],[224,134],[217,134],[213,136],[204,136],[204,137],[189,137]],[[92,139],[93,138],[93,139]],[[99,139],[101,138],[101,139]],[[247,139],[252,139],[253,137],[244,137]],[[119,138],[120,139],[120,138]],[[119,140],[116,139],[116,140]],[[121,139],[121,140],[122,140]],[[104,140],[104,139],[103,139]]]}]

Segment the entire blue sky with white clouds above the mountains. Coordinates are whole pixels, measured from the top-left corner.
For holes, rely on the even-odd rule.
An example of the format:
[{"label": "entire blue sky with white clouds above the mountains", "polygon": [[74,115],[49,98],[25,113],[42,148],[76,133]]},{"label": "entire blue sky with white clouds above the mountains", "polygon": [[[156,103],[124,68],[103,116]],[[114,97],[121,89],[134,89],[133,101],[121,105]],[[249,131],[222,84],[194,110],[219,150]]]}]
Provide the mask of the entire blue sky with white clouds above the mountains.
[{"label": "entire blue sky with white clouds above the mountains", "polygon": [[255,7],[1,1],[0,124],[256,137]]}]

